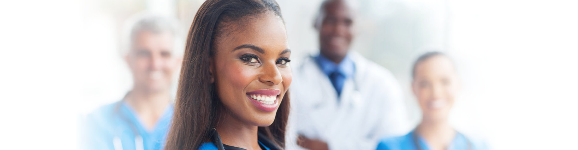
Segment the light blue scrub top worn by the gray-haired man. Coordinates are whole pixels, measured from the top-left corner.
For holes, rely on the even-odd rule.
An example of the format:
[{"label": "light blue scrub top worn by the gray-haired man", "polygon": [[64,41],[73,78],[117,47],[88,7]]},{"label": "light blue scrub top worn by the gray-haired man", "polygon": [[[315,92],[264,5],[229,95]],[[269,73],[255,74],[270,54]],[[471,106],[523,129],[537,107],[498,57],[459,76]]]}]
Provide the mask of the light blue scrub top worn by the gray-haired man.
[{"label": "light blue scrub top worn by the gray-haired man", "polygon": [[[162,149],[173,115],[173,106],[169,105],[153,130],[146,130],[140,123],[135,111],[121,101],[108,104],[88,114],[83,122],[83,149],[136,149],[135,131],[142,137],[143,149]],[[116,142],[113,142],[116,141]],[[120,142],[119,142],[120,141]]]}]

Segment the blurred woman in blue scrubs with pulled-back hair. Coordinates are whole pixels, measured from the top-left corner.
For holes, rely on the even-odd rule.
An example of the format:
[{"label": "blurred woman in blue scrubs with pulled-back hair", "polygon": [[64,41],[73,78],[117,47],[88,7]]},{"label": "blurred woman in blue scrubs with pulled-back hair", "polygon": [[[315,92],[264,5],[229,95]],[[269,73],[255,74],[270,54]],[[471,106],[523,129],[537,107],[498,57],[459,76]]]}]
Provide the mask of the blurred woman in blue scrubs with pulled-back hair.
[{"label": "blurred woman in blue scrubs with pulled-back hair", "polygon": [[440,52],[421,55],[413,65],[412,90],[423,118],[412,132],[384,138],[377,149],[487,149],[449,125],[448,116],[459,89],[454,64],[447,55]]}]

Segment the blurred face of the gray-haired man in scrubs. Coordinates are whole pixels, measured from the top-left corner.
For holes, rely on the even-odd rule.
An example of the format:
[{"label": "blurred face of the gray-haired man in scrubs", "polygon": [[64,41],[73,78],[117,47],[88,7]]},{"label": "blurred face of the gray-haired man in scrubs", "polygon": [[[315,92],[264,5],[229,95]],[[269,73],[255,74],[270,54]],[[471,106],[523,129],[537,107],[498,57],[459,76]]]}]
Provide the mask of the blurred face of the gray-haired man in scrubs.
[{"label": "blurred face of the gray-haired man in scrubs", "polygon": [[168,91],[181,58],[173,54],[172,33],[142,31],[136,34],[127,57],[134,80],[134,90]]}]

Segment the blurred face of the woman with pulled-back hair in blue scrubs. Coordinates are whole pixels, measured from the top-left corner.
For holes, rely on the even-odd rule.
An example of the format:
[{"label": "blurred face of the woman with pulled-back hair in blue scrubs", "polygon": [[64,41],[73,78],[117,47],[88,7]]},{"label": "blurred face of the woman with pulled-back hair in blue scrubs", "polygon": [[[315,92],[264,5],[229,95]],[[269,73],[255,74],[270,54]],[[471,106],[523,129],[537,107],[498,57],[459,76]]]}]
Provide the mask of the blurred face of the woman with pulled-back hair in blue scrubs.
[{"label": "blurred face of the woman with pulled-back hair in blue scrubs", "polygon": [[447,57],[436,55],[418,63],[412,83],[424,119],[447,119],[458,91],[455,69]]}]

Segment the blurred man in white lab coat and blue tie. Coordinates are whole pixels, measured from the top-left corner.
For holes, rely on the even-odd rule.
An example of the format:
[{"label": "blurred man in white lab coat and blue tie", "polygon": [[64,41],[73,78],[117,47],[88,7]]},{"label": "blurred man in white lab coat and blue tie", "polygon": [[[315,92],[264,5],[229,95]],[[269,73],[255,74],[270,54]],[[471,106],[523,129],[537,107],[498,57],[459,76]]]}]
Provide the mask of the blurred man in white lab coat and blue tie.
[{"label": "blurred man in white lab coat and blue tie", "polygon": [[375,149],[380,137],[408,130],[392,73],[349,50],[352,13],[345,1],[323,2],[315,24],[320,54],[293,67],[290,130],[301,148]]}]

